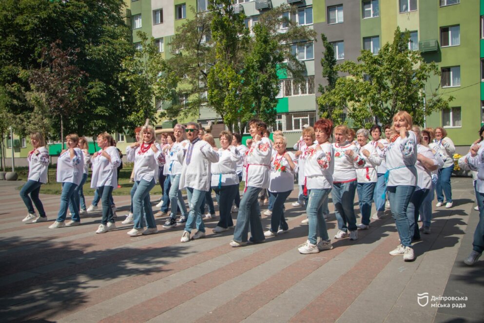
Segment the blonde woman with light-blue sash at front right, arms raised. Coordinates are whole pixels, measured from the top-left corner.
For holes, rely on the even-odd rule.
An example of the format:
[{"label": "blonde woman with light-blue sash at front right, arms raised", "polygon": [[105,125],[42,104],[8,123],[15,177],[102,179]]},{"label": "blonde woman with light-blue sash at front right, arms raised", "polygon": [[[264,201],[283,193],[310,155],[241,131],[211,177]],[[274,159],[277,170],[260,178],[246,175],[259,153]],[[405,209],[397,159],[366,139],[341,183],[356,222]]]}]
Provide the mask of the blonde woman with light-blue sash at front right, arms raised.
[{"label": "blonde woman with light-blue sash at front right, arms raised", "polygon": [[387,149],[387,191],[390,209],[395,219],[400,245],[390,255],[403,255],[404,261],[413,261],[412,232],[407,218],[407,207],[417,186],[417,138],[411,131],[412,116],[399,111],[393,116],[395,133],[389,138]]}]

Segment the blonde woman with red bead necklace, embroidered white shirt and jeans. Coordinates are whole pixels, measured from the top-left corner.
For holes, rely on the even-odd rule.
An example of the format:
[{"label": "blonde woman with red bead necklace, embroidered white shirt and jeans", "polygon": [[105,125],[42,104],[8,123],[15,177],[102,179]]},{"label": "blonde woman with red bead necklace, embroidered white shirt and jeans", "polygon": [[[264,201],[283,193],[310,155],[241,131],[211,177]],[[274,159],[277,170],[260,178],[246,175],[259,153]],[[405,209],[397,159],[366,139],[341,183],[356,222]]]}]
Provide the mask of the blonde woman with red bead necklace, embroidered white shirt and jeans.
[{"label": "blonde woman with red bead necklace, embroidered white shirt and jeans", "polygon": [[[153,126],[145,125],[141,128],[141,140],[141,142],[136,143],[139,149],[127,150],[128,161],[135,162],[134,226],[127,233],[132,237],[158,232],[153,208],[151,207],[150,191],[158,179],[158,166],[165,163],[163,151],[159,144],[155,142],[155,128]],[[146,230],[144,230],[145,217],[148,226]]]}]

